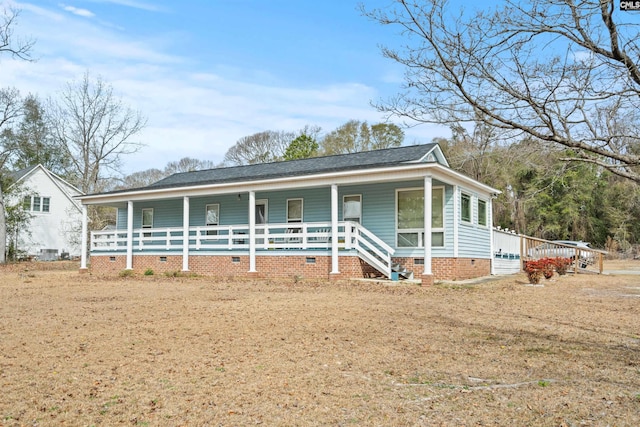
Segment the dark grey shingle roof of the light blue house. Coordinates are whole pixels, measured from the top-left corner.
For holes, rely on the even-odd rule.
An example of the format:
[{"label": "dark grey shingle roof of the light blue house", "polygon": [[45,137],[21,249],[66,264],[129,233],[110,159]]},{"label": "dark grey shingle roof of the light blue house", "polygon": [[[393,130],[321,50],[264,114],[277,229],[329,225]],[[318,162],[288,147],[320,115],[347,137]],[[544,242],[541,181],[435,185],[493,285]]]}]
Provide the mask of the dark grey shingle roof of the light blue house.
[{"label": "dark grey shingle roof of the light blue house", "polygon": [[352,154],[340,154],[285,162],[262,163],[247,166],[207,169],[176,173],[164,178],[148,189],[206,185],[240,181],[256,181],[283,177],[296,177],[345,170],[390,167],[423,159],[437,144],[412,145]]}]

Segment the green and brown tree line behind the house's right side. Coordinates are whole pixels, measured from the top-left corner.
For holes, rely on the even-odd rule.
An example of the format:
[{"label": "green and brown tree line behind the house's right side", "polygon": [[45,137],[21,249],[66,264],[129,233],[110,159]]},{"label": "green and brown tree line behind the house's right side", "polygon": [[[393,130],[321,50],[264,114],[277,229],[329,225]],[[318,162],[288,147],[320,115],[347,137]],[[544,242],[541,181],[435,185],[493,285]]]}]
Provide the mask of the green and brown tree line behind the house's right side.
[{"label": "green and brown tree line behind the house's right side", "polygon": [[583,240],[637,254],[640,186],[575,154],[531,137],[504,141],[478,122],[436,138],[451,168],[501,190],[493,224],[547,240]]}]

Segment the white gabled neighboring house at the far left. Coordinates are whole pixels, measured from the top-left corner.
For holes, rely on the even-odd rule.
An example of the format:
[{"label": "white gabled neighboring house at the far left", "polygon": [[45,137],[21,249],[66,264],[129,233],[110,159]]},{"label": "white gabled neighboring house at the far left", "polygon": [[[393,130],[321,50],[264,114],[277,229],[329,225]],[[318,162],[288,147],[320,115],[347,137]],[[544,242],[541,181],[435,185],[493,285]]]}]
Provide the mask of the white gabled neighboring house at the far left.
[{"label": "white gabled neighboring house at the far left", "polygon": [[18,234],[18,249],[45,261],[80,256],[82,206],[73,197],[82,192],[40,164],[12,176],[32,216],[28,232]]}]

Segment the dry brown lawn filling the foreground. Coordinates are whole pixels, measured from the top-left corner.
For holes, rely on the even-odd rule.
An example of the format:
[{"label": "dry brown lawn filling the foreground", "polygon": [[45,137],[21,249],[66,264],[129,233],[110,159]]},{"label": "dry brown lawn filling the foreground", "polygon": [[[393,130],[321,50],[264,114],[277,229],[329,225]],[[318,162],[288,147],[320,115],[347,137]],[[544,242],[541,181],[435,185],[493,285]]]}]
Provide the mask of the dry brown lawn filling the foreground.
[{"label": "dry brown lawn filling the foreground", "polygon": [[5,270],[0,300],[1,426],[640,425],[640,276]]}]

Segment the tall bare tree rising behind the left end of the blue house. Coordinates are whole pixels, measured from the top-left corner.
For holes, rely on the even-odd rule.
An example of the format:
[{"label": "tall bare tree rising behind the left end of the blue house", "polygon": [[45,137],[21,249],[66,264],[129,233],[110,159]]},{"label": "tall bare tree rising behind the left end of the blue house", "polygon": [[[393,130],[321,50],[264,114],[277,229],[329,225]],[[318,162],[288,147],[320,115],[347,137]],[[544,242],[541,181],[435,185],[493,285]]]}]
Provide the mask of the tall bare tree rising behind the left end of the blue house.
[{"label": "tall bare tree rising behind the left end of the blue house", "polygon": [[99,77],[91,81],[85,73],[67,84],[48,110],[54,138],[71,162],[69,175],[85,193],[101,191],[103,181],[120,172],[122,156],[142,146],[132,138],[146,119],[123,105]]}]

